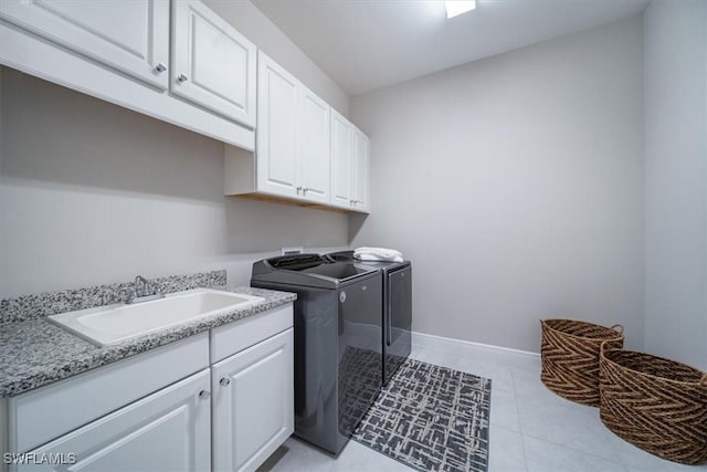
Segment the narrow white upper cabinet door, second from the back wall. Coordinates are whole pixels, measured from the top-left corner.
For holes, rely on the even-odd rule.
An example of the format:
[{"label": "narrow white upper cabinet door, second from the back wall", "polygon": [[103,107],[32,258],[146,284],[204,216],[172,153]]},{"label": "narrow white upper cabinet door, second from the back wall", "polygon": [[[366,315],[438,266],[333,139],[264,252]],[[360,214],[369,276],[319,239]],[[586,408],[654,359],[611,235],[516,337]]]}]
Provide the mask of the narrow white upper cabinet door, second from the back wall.
[{"label": "narrow white upper cabinet door, second from the back wall", "polygon": [[352,126],[331,109],[331,204],[351,207]]}]

